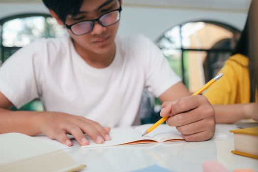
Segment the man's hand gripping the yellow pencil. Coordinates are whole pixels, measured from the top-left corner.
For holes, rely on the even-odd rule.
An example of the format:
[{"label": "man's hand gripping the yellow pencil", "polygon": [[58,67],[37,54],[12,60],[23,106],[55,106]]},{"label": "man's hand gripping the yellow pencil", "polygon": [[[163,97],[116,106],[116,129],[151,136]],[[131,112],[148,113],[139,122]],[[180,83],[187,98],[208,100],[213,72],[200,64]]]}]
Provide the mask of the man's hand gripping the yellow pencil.
[{"label": "man's hand gripping the yellow pencil", "polygon": [[183,97],[176,102],[164,102],[160,115],[170,115],[167,124],[175,126],[185,141],[206,141],[214,135],[215,111],[202,95]]}]

